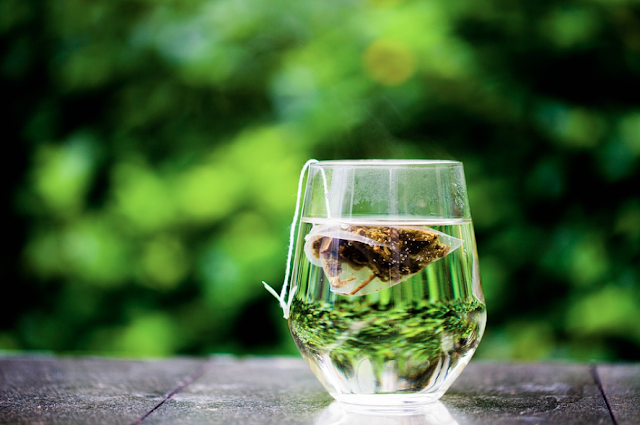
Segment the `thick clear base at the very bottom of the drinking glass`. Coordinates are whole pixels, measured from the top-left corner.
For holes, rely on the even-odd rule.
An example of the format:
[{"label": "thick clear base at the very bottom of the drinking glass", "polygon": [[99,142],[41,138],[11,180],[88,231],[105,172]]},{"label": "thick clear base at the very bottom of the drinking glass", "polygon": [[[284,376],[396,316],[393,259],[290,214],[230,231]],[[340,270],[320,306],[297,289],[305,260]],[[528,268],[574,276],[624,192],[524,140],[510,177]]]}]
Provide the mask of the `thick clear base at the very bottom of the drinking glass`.
[{"label": "thick clear base at the very bottom of the drinking glass", "polygon": [[361,415],[417,415],[438,402],[442,393],[332,394],[347,412]]}]

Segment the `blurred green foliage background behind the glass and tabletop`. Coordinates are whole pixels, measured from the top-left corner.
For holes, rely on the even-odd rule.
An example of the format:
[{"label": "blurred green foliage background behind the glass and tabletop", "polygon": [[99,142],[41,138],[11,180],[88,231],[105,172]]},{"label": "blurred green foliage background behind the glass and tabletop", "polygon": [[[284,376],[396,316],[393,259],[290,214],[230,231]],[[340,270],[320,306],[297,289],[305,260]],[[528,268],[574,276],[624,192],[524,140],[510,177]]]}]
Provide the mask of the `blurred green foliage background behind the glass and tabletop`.
[{"label": "blurred green foliage background behind the glass and tabletop", "polygon": [[477,353],[640,358],[640,1],[3,0],[0,349],[294,353],[308,158],[465,163]]}]

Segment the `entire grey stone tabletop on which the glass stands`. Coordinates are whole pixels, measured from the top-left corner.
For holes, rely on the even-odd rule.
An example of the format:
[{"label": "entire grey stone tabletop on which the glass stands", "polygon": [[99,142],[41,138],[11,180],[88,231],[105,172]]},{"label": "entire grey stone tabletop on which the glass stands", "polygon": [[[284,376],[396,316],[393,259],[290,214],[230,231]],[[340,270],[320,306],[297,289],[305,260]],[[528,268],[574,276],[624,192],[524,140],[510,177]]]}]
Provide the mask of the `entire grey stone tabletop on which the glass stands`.
[{"label": "entire grey stone tabletop on which the glass stands", "polygon": [[5,357],[3,423],[627,425],[640,423],[640,365],[471,362],[441,403],[388,417],[344,412],[297,357]]}]

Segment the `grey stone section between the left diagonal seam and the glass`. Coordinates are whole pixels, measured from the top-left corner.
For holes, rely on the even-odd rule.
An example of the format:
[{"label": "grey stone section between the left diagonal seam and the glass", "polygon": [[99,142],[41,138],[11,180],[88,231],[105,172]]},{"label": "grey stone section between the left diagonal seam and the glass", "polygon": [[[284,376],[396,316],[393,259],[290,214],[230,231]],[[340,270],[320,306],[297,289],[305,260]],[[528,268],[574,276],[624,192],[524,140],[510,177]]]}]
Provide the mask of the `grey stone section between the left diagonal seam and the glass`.
[{"label": "grey stone section between the left diagonal seam and the glass", "polygon": [[333,399],[299,358],[212,358],[145,424],[313,424]]}]

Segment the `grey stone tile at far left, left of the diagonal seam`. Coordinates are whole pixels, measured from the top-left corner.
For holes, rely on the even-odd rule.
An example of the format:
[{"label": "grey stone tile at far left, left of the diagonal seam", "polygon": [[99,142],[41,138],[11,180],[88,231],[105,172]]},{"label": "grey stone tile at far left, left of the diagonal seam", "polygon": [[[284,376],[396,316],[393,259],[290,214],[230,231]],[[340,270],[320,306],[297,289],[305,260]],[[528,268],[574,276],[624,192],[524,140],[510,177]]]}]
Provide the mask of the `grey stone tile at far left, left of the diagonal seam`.
[{"label": "grey stone tile at far left, left of the diagonal seam", "polygon": [[1,424],[131,424],[202,360],[0,359]]}]

